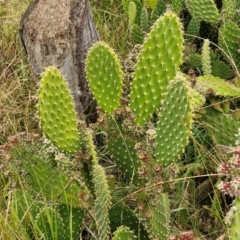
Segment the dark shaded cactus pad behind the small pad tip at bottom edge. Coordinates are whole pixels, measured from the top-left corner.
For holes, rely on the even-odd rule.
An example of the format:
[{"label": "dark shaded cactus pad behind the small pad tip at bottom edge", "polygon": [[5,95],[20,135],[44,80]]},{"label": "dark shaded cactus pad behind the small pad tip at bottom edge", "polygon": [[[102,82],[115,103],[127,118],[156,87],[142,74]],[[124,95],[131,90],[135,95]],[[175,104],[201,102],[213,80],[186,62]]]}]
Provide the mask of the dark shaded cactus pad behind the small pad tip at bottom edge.
[{"label": "dark shaded cactus pad behind the small pad tip at bottom edge", "polygon": [[134,212],[121,202],[113,204],[109,210],[109,219],[112,232],[120,226],[130,228],[138,239],[148,240],[148,233]]}]

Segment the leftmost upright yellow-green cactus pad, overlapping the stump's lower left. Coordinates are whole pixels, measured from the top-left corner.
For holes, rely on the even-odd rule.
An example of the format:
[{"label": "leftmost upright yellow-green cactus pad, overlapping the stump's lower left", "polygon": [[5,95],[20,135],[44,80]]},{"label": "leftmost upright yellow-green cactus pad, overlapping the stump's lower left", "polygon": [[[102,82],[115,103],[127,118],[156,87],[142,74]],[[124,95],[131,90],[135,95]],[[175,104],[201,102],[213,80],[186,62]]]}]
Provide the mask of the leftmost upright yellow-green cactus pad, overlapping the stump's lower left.
[{"label": "leftmost upright yellow-green cactus pad, overlapping the stump's lower left", "polygon": [[79,136],[72,96],[55,67],[46,68],[42,74],[38,98],[40,123],[46,137],[63,151],[77,151]]}]

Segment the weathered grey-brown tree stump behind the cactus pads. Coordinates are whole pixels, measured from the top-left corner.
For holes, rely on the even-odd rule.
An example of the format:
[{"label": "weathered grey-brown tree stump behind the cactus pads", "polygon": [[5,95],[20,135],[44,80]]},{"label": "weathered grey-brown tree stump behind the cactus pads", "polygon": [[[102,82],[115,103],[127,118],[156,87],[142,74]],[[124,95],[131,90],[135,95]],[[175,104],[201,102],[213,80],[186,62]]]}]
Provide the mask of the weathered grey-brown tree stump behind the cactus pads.
[{"label": "weathered grey-brown tree stump behind the cactus pads", "polygon": [[92,100],[85,57],[99,40],[89,0],[35,0],[22,16],[19,32],[36,80],[47,66],[59,68],[81,117]]}]

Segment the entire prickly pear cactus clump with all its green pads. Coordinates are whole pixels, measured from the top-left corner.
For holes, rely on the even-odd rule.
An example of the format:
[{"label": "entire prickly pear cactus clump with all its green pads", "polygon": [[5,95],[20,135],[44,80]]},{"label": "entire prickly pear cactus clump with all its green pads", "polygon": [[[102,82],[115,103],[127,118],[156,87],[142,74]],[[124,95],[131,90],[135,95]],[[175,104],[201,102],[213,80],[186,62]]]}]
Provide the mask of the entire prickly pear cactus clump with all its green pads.
[{"label": "entire prickly pear cactus clump with all its green pads", "polygon": [[[90,48],[85,70],[99,106],[96,124],[78,127],[71,94],[56,68],[49,67],[42,75],[38,92],[41,127],[55,146],[74,154],[72,159],[80,165],[76,179],[77,175],[69,176],[42,159],[23,164],[33,190],[49,202],[42,207],[28,196],[38,231],[49,239],[77,238],[83,219],[91,222],[100,240],[169,239],[169,192],[174,192],[169,179],[180,176],[178,166],[185,167],[177,160],[193,134],[194,120],[216,145],[232,146],[236,141],[240,117],[234,101],[240,90],[226,81],[239,68],[240,32],[231,15],[236,1],[223,1],[226,12],[221,15],[213,0],[172,0],[168,5],[162,0],[122,2],[132,43],[142,45],[134,48],[126,63],[126,81],[121,60],[110,46],[98,42]],[[178,17],[182,10],[191,15],[187,26]],[[224,14],[227,20],[220,22],[218,35],[222,53],[212,49],[210,35],[202,42],[198,36],[202,23],[213,26]],[[104,148],[98,146],[98,139]],[[89,156],[81,161],[78,156],[84,151]],[[106,156],[114,170],[101,166]],[[70,224],[73,218],[74,226]],[[237,221],[236,217],[233,231]],[[187,226],[187,220],[183,225]],[[190,238],[193,233],[180,236]]]}]

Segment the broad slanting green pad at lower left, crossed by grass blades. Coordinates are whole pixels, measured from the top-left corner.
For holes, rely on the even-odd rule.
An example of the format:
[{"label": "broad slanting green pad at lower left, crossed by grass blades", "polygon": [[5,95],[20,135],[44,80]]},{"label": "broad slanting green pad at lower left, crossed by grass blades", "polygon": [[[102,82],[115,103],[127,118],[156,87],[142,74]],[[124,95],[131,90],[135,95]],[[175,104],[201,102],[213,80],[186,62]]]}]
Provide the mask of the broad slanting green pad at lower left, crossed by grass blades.
[{"label": "broad slanting green pad at lower left, crossed by grass blades", "polygon": [[[64,172],[52,167],[44,160],[31,157],[23,161],[23,168],[29,173],[33,189],[51,201],[72,205],[73,207],[87,207],[78,197],[83,189]],[[89,201],[90,202],[90,201]]]}]

